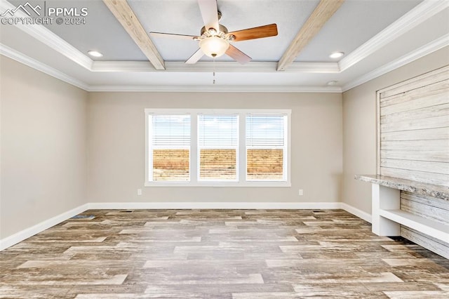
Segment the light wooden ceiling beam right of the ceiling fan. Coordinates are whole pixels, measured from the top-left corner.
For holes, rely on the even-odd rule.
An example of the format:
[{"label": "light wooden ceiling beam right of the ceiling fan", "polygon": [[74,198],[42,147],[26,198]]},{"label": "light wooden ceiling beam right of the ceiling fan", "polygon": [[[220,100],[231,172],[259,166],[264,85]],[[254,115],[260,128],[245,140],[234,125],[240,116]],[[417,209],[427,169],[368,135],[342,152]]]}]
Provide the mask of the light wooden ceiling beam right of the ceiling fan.
[{"label": "light wooden ceiling beam right of the ceiling fan", "polygon": [[310,17],[302,25],[300,32],[297,33],[295,39],[288,46],[286,52],[283,53],[281,60],[278,62],[278,71],[285,70],[293,63],[300,51],[318,34],[321,27],[342,6],[343,2],[344,0],[321,0],[319,2],[314,12],[311,13]]}]

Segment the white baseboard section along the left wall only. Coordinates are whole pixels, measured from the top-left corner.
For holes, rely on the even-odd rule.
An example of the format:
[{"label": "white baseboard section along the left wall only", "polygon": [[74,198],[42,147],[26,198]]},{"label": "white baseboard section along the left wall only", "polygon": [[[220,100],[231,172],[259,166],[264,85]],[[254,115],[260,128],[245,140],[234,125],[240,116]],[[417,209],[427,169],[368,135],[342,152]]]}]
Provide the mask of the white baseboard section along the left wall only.
[{"label": "white baseboard section along the left wall only", "polygon": [[12,234],[9,237],[0,239],[0,251],[4,250],[5,248],[8,248],[10,246],[13,246],[14,244],[18,244],[20,241],[28,239],[29,237],[34,236],[34,234],[38,234],[39,232],[42,232],[43,230],[47,230],[48,228],[50,228],[54,225],[57,225],[58,223],[60,223],[64,220],[72,218],[74,215],[78,215],[79,213],[82,213],[83,211],[86,211],[87,209],[88,209],[88,204],[83,204],[82,206],[72,208],[72,210],[70,210],[70,211],[64,212],[64,213],[57,215],[53,218],[44,220],[36,225],[33,225],[32,227],[28,227],[25,230],[22,230],[20,232]]}]

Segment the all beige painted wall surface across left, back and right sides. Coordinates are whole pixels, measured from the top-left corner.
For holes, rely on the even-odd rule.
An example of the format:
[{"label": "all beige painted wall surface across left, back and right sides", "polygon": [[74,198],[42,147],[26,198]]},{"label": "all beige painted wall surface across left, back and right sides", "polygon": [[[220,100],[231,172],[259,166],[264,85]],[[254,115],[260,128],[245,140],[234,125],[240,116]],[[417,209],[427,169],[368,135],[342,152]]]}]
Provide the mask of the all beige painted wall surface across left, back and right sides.
[{"label": "all beige painted wall surface across left, back and right sides", "polygon": [[[344,201],[370,213],[370,185],[353,177],[376,171],[375,91],[447,65],[449,49],[342,95],[86,93],[0,59],[2,239],[86,202]],[[144,109],[170,107],[292,109],[292,187],[143,187]]]}]

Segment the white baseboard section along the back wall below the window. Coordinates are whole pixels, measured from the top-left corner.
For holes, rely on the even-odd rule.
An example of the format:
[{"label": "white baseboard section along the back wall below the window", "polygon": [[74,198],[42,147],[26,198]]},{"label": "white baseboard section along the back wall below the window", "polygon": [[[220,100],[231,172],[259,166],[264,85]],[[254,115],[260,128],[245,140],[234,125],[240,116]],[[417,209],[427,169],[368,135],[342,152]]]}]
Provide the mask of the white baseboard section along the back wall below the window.
[{"label": "white baseboard section along the back wall below the window", "polygon": [[248,208],[248,209],[332,209],[341,208],[340,202],[95,202],[88,204],[95,209],[183,209],[183,208]]}]

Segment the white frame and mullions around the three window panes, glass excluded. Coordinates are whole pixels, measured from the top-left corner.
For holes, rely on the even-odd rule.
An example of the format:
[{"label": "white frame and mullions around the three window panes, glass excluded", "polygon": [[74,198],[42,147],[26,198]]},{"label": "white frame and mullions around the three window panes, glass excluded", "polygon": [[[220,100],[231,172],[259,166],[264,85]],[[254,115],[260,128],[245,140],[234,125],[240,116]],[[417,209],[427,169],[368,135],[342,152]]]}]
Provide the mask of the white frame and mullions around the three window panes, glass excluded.
[{"label": "white frame and mullions around the three window panes, glass excluded", "polygon": [[[150,181],[152,178],[151,157],[149,155],[149,115],[152,114],[189,114],[190,115],[190,180],[189,181]],[[199,114],[238,114],[239,147],[237,152],[237,178],[231,180],[199,181],[198,115]],[[246,180],[246,116],[248,114],[286,115],[286,150],[284,150],[283,173],[286,180]],[[146,187],[291,187],[291,109],[145,109],[145,182]],[[286,152],[285,152],[286,151]]]}]

